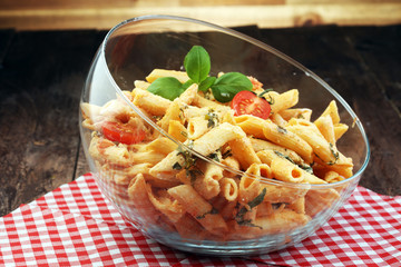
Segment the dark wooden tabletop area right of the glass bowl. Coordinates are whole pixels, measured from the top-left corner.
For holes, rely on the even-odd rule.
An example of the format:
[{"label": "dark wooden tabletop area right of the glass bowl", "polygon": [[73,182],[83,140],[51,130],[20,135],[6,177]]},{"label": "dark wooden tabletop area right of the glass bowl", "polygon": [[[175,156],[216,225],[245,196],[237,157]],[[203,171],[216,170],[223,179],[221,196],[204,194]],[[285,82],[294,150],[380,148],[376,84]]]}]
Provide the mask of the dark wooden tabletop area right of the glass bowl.
[{"label": "dark wooden tabletop area right of the glass bowl", "polygon": [[[399,75],[388,75],[391,68],[395,72],[400,69],[399,56],[390,58],[398,48],[391,41],[399,32],[395,28],[378,28],[376,32],[371,27],[262,30],[266,43],[310,68],[353,108],[371,146],[371,160],[360,184],[392,196],[401,195],[401,166],[397,164],[401,155],[401,117],[388,98],[385,85],[400,83]],[[381,40],[375,41],[378,38]],[[371,42],[375,43],[373,50],[361,50],[362,43]],[[399,95],[395,98],[401,99]]]}]

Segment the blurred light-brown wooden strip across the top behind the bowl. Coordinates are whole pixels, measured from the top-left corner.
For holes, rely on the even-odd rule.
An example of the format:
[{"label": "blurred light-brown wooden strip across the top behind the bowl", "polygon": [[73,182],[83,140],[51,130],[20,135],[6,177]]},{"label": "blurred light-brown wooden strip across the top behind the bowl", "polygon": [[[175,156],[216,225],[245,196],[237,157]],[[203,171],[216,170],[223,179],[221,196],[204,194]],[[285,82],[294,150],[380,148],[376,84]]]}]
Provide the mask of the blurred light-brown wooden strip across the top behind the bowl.
[{"label": "blurred light-brown wooden strip across the top behind the bowl", "polygon": [[[144,14],[175,14],[225,27],[401,23],[399,0],[0,0],[0,29],[110,29]],[[234,18],[234,19],[233,19]]]}]

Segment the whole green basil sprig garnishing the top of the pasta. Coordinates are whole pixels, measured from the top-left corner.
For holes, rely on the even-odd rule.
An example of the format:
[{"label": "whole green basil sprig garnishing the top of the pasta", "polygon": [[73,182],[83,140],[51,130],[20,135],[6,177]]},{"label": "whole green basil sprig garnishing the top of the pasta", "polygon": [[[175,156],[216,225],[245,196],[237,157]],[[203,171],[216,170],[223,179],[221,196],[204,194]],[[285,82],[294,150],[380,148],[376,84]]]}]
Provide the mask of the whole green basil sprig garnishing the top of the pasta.
[{"label": "whole green basil sprig garnishing the top of the pasta", "polygon": [[148,87],[148,91],[160,97],[174,100],[179,97],[193,83],[198,85],[198,90],[212,89],[214,98],[219,102],[228,102],[239,91],[251,91],[251,80],[239,72],[227,72],[216,78],[209,76],[211,57],[200,46],[194,46],[185,56],[184,67],[189,77],[185,83],[180,83],[174,77],[156,79]]}]

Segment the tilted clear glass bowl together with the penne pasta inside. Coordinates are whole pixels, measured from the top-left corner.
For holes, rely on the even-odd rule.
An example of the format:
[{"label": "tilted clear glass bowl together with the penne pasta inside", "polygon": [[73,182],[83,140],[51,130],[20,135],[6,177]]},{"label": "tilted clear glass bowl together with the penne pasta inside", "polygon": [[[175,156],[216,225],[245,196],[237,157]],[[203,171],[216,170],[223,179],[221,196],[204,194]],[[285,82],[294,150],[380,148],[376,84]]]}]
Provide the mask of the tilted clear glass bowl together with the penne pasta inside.
[{"label": "tilted clear glass bowl together with the penne pasta inside", "polygon": [[[208,52],[209,76],[241,72],[254,89],[273,88],[271,117],[233,116],[206,93],[183,102],[146,90],[154,69],[182,77],[194,46]],[[291,89],[297,103],[282,111],[277,96]],[[206,134],[189,129],[198,123],[190,111],[213,122]],[[297,132],[323,118],[320,132]],[[232,29],[172,16],[134,18],[108,32],[82,91],[80,134],[100,190],[127,221],[166,246],[218,256],[265,254],[309,237],[344,205],[370,155],[360,120],[316,75]],[[292,145],[282,138],[288,135]],[[334,161],[323,159],[320,141]]]}]

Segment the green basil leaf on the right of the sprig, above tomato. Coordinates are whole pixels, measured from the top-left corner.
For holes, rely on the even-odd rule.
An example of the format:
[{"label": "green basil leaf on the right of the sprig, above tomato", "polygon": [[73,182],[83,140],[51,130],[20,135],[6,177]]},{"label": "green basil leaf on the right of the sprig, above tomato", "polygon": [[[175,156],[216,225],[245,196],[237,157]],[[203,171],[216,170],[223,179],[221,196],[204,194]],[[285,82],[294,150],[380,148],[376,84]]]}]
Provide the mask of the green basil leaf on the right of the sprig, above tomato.
[{"label": "green basil leaf on the right of the sprig, above tomato", "polygon": [[219,102],[228,102],[239,91],[251,91],[251,80],[239,72],[227,72],[221,76],[211,87],[213,96]]}]

